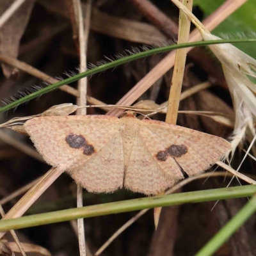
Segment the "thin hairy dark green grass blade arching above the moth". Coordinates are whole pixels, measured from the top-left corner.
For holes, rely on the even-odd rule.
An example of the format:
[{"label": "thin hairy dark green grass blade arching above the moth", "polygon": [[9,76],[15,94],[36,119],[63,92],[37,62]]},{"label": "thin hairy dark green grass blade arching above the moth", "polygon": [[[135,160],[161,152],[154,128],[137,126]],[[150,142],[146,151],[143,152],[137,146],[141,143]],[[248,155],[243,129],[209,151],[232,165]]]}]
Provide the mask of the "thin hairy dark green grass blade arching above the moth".
[{"label": "thin hairy dark green grass blade arching above the moth", "polygon": [[111,61],[109,63],[101,65],[99,67],[92,68],[90,70],[87,70],[86,72],[77,74],[76,76],[69,77],[65,80],[60,81],[59,83],[51,84],[45,88],[42,88],[41,90],[38,90],[29,95],[26,95],[25,97],[17,99],[11,102],[10,104],[7,104],[6,106],[0,108],[0,113],[8,111],[9,109],[15,108],[22,103],[28,102],[29,100],[40,97],[41,95],[51,92],[52,90],[55,90],[57,88],[60,88],[60,86],[63,86],[65,84],[73,83],[83,77],[92,76],[93,74],[97,74],[109,68],[114,68],[114,67],[117,67],[118,65],[122,65],[124,63],[130,62],[133,60],[145,58],[154,54],[168,52],[168,51],[172,51],[180,48],[196,47],[196,46],[210,45],[210,44],[227,44],[227,43],[241,43],[241,42],[256,42],[256,39],[241,38],[241,39],[200,41],[200,42],[193,42],[193,43],[186,43],[186,44],[179,44],[179,45],[168,45],[168,46],[159,47],[156,49],[151,49],[148,51],[138,52],[138,53],[132,54],[131,56],[125,56],[124,58],[120,58],[118,60]]}]

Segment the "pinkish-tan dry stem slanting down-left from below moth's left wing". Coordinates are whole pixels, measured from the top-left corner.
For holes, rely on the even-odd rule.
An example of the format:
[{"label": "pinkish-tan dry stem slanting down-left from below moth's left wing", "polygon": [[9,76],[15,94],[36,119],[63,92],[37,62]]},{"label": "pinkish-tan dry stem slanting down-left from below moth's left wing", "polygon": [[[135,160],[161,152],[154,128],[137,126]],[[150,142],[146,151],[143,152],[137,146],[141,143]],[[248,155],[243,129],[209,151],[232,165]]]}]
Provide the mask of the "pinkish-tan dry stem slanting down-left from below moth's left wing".
[{"label": "pinkish-tan dry stem slanting down-left from below moth's left wing", "polygon": [[[51,184],[63,173],[58,168],[51,168],[38,183],[29,189],[28,193],[24,195],[17,204],[15,204],[10,211],[4,216],[3,220],[12,218],[19,218],[22,216],[29,207],[44,193],[44,191],[51,186]],[[0,232],[0,238],[4,236],[6,232]]]}]

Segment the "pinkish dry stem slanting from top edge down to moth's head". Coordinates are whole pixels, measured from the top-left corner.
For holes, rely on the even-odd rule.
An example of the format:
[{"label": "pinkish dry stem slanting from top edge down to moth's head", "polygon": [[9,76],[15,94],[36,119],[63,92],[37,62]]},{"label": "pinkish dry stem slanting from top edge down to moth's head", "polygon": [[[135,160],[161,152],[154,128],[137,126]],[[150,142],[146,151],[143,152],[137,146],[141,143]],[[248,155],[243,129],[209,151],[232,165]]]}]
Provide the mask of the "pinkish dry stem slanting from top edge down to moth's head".
[{"label": "pinkish dry stem slanting from top edge down to moth's head", "polygon": [[[239,4],[234,4],[233,0],[228,0],[212,13],[203,24],[209,31],[216,28],[223,20],[225,20],[231,13],[235,12],[246,0],[237,1]],[[202,39],[202,36],[197,29],[194,29],[189,36],[189,42],[195,42]],[[191,51],[192,47],[188,48]],[[161,60],[156,67],[152,68],[148,74],[143,77],[122,99],[117,102],[117,105],[130,106],[138,99],[144,92],[152,86],[161,76],[163,76],[170,68],[173,67],[175,60],[175,52],[170,52],[163,60]],[[122,113],[120,109],[111,109],[107,115],[119,116]]]}]

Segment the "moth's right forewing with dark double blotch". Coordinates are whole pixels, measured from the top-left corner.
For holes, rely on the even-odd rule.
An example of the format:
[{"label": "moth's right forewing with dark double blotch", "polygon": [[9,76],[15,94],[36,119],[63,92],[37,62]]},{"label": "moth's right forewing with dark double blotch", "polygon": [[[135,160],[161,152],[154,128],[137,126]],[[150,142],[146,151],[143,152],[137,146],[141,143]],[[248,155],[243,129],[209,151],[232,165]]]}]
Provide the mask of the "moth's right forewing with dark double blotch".
[{"label": "moth's right forewing with dark double blotch", "polygon": [[[152,148],[158,163],[162,165],[168,157],[173,157],[189,176],[204,172],[231,148],[228,141],[218,136],[165,122],[141,122],[150,131],[148,134],[158,134],[155,141],[148,141],[148,148]],[[145,140],[147,141],[146,137]],[[157,152],[156,145],[159,143],[161,146],[158,146]]]}]

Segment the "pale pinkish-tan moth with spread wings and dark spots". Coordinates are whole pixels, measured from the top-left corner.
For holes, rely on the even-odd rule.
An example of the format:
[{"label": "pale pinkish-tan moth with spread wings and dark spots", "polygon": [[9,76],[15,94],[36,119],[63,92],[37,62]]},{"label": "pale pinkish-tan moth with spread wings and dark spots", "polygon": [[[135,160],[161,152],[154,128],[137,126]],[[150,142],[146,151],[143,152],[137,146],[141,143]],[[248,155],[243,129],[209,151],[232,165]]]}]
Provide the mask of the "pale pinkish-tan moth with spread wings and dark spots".
[{"label": "pale pinkish-tan moth with spread wings and dark spots", "polygon": [[155,120],[133,111],[105,115],[40,116],[24,124],[36,149],[83,188],[118,188],[156,195],[207,170],[230,149],[223,138]]}]

